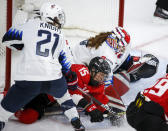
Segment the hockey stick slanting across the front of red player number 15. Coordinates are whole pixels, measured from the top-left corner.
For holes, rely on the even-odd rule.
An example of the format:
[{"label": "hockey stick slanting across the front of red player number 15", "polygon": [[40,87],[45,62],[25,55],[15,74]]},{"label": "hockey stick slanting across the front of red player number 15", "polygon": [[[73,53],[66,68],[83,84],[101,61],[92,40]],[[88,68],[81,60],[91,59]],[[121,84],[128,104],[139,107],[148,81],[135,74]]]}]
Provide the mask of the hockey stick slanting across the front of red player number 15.
[{"label": "hockey stick slanting across the front of red player number 15", "polygon": [[108,105],[104,105],[99,100],[97,100],[96,98],[94,98],[90,94],[86,93],[84,90],[82,90],[80,87],[77,87],[77,89],[80,92],[82,92],[85,96],[89,97],[92,101],[94,101],[95,103],[97,103],[99,106],[101,106],[102,108],[106,109],[111,115],[121,116],[121,115],[125,114],[125,112],[120,112],[120,113],[114,112],[112,109],[110,109],[110,107]]}]

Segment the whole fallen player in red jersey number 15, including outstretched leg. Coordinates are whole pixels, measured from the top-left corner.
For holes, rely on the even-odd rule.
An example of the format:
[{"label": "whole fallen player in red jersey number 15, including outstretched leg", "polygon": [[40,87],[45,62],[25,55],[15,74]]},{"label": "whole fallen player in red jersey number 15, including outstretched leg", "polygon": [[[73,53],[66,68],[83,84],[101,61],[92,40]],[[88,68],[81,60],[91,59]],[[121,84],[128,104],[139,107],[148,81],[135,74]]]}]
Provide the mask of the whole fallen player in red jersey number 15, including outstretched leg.
[{"label": "whole fallen player in red jersey number 15, including outstretched leg", "polygon": [[[93,58],[89,66],[82,64],[73,64],[71,70],[76,72],[78,77],[78,86],[86,93],[90,94],[104,105],[108,104],[108,98],[104,94],[104,79],[111,72],[108,62],[101,57]],[[92,103],[91,99],[83,94],[74,85],[68,86],[69,92],[77,107],[85,110],[90,116],[91,122],[103,121],[103,113],[108,113],[105,108],[102,108],[97,103]],[[37,119],[40,119],[45,112],[45,109],[53,102],[54,99],[47,94],[40,94],[31,102],[29,102],[24,110],[15,113],[15,116],[20,122],[31,124]]]}]

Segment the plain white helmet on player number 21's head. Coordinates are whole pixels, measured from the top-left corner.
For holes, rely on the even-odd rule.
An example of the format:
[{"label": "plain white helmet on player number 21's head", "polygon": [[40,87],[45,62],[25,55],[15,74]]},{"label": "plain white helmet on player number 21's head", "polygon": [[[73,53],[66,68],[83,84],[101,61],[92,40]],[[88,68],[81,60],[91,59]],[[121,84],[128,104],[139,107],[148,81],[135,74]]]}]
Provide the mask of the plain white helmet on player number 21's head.
[{"label": "plain white helmet on player number 21's head", "polygon": [[54,2],[43,3],[40,8],[41,19],[45,22],[57,24],[59,28],[65,24],[65,13],[63,9]]}]

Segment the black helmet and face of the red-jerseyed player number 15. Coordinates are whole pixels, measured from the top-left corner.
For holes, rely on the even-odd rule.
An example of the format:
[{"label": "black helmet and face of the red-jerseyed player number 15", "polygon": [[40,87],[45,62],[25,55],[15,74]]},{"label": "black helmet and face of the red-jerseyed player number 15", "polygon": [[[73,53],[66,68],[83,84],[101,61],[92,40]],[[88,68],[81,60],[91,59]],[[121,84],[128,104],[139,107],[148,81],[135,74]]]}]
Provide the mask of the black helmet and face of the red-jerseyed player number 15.
[{"label": "black helmet and face of the red-jerseyed player number 15", "polygon": [[89,71],[91,74],[90,85],[98,86],[104,82],[108,74],[111,72],[111,68],[105,59],[95,57],[89,63]]}]

